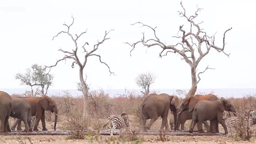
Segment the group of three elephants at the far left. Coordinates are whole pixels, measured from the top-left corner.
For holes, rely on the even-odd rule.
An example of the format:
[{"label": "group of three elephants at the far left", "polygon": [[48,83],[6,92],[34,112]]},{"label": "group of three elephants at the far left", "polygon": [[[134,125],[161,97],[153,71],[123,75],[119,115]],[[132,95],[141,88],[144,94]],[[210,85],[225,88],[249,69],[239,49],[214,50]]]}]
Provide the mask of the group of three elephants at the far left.
[{"label": "group of three elephants at the far left", "polygon": [[[33,98],[11,98],[6,92],[0,91],[0,132],[7,132],[21,129],[21,121],[25,124],[23,131],[38,131],[39,121],[42,122],[43,131],[47,131],[45,124],[45,111],[51,111],[55,114],[54,130],[58,119],[58,109],[54,100],[44,95],[42,97]],[[31,117],[36,116],[34,128],[31,127]],[[9,126],[9,117],[15,118],[14,124]]]}]

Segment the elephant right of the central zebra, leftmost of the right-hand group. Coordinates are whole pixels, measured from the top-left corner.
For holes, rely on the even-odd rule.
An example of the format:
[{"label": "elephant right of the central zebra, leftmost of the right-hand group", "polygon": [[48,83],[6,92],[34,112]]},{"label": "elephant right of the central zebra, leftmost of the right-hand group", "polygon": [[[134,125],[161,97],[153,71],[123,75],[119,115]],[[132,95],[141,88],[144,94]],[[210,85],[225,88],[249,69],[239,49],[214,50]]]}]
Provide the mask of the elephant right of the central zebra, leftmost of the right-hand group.
[{"label": "elephant right of the central zebra, leftmost of the right-hand group", "polygon": [[[162,124],[160,130],[163,131],[165,127],[166,131],[169,131],[167,116],[169,108],[174,115],[174,123],[177,123],[177,105],[179,103],[179,98],[177,96],[167,95],[167,94],[151,94],[148,95],[140,105],[141,112],[141,124],[143,126],[143,131],[149,130],[151,125],[161,116]],[[151,119],[146,126],[147,119]]]}]

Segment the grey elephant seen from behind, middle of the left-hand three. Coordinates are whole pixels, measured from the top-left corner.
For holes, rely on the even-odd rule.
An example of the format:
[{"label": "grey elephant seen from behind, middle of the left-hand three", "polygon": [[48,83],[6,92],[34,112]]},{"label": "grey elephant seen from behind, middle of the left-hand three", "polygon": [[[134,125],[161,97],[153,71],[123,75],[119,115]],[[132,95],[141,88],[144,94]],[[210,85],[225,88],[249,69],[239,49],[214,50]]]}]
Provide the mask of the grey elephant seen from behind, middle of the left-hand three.
[{"label": "grey elephant seen from behind, middle of the left-hand three", "polygon": [[[32,131],[31,127],[31,106],[30,103],[23,97],[12,98],[13,101],[13,112],[10,116],[13,118],[20,118],[25,124],[25,132]],[[11,130],[15,130],[18,121],[15,121]]]}]

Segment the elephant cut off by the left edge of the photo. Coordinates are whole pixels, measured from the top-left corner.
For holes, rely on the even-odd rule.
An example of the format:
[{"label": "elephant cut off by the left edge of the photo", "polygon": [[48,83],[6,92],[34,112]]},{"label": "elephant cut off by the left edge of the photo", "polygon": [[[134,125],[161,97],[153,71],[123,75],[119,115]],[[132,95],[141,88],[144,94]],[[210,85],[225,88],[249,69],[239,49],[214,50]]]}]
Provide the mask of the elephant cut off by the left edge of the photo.
[{"label": "elephant cut off by the left edge of the photo", "polygon": [[9,117],[13,113],[12,98],[6,92],[0,91],[0,131],[11,131],[9,126]]}]

